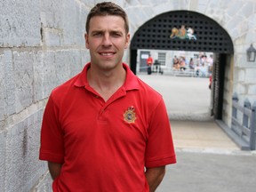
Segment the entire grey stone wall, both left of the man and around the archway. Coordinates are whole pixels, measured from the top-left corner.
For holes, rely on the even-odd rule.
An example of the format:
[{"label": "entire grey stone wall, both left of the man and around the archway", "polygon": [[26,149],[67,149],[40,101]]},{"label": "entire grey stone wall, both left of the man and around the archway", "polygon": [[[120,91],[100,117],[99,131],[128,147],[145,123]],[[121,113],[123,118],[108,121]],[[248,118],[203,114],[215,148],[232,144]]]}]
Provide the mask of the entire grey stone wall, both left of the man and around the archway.
[{"label": "entire grey stone wall, both left of the man and around the archway", "polygon": [[[47,165],[38,161],[44,106],[52,88],[74,76],[88,61],[84,22],[97,2],[0,0],[0,191],[51,191]],[[230,122],[232,92],[242,100],[256,100],[256,64],[245,60],[246,49],[252,43],[256,46],[255,1],[115,2],[127,11],[132,34],[147,20],[174,10],[200,12],[216,20],[235,47],[225,78],[227,86],[233,85],[233,90],[225,89],[226,123]],[[124,61],[129,62],[129,52]]]}]

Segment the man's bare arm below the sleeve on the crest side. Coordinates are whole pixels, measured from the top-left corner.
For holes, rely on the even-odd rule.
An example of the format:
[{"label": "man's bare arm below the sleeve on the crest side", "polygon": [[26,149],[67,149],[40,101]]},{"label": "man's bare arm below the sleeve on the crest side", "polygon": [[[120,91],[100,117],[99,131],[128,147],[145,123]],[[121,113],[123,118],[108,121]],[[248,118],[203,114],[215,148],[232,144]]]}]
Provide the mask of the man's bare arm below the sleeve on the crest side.
[{"label": "man's bare arm below the sleeve on the crest side", "polygon": [[148,181],[149,191],[154,192],[164,179],[165,166],[147,168],[145,175]]}]

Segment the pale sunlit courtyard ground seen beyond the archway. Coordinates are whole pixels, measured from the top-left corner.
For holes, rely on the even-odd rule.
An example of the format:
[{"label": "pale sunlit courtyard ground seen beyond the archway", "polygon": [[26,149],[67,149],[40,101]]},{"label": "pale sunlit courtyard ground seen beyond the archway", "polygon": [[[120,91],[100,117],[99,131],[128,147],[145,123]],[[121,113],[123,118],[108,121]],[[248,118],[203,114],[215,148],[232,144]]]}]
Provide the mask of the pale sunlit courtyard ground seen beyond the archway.
[{"label": "pale sunlit courtyard ground seen beyond the archway", "polygon": [[156,74],[138,76],[163,95],[172,119],[210,119],[211,91],[208,78]]}]

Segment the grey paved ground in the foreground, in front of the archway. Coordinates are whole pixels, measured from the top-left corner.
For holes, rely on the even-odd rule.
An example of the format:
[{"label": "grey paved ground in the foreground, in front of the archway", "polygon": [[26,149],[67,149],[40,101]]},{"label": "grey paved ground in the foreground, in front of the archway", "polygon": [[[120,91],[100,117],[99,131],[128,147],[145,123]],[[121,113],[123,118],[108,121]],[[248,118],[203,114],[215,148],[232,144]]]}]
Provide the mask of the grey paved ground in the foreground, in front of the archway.
[{"label": "grey paved ground in the foreground, in front of the archway", "polygon": [[255,192],[256,156],[177,151],[156,192]]}]

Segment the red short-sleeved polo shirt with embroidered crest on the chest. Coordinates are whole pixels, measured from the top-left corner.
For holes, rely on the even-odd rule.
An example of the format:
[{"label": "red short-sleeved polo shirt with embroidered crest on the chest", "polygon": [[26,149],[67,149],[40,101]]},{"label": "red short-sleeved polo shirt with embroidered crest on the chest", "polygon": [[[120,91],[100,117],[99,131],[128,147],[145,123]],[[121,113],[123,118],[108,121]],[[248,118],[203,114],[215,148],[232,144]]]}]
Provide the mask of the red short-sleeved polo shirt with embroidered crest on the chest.
[{"label": "red short-sleeved polo shirt with embroidered crest on the chest", "polygon": [[107,102],[87,82],[90,63],[52,91],[39,158],[63,164],[53,191],[146,192],[144,167],[176,162],[162,96],[123,66],[125,83]]}]

